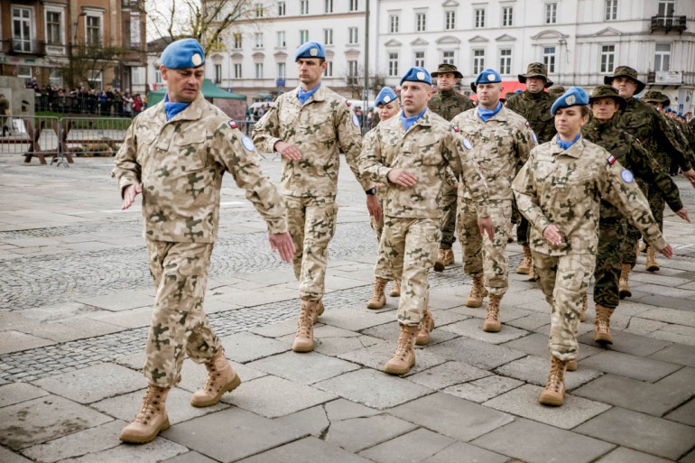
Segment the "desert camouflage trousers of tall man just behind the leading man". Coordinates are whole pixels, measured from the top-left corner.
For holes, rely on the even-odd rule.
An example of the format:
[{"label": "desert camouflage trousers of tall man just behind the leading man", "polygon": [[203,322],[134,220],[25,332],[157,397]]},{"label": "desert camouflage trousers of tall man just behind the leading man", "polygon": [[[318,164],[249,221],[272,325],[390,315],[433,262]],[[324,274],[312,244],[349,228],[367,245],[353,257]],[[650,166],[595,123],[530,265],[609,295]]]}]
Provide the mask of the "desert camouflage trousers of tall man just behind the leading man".
[{"label": "desert camouflage trousers of tall man just behind the leading man", "polygon": [[297,251],[292,259],[300,298],[320,301],[325,292],[329,243],[336,233],[338,206],[325,197],[285,196],[287,226]]}]

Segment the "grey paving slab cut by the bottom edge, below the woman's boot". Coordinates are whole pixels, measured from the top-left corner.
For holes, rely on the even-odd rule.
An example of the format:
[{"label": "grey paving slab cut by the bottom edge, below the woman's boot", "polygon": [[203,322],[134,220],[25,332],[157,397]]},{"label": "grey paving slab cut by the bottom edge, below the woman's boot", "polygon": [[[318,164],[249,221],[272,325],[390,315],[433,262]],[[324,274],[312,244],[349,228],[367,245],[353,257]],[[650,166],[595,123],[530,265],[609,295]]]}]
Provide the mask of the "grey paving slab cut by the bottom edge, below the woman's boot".
[{"label": "grey paving slab cut by the bottom edge, below the woman's boot", "polygon": [[471,443],[521,461],[558,461],[558,452],[561,451],[563,463],[589,463],[615,447],[601,440],[524,419],[517,419]]}]

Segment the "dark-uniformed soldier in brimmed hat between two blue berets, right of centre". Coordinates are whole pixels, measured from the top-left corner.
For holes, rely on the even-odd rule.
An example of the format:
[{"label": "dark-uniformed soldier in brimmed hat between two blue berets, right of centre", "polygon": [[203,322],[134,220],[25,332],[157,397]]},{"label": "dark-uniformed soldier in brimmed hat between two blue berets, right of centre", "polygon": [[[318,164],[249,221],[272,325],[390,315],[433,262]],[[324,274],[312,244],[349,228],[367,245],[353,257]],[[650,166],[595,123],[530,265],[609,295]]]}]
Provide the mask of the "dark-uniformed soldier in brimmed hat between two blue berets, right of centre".
[{"label": "dark-uniformed soldier in brimmed hat between two blue berets, right of centre", "polygon": [[[514,113],[524,117],[535,134],[536,143],[544,144],[550,142],[555,135],[555,125],[552,123],[551,106],[558,96],[552,97],[544,88],[552,86],[551,79],[548,79],[548,69],[541,62],[532,62],[526,67],[525,74],[518,75],[519,82],[526,84],[526,89],[510,97],[506,102],[506,107]],[[519,165],[521,169],[521,165]],[[516,268],[516,273],[528,274],[528,280],[535,280],[533,274],[533,263],[531,262],[531,248],[529,247],[529,224],[521,217],[516,225],[516,241],[524,249],[524,260]]]}]

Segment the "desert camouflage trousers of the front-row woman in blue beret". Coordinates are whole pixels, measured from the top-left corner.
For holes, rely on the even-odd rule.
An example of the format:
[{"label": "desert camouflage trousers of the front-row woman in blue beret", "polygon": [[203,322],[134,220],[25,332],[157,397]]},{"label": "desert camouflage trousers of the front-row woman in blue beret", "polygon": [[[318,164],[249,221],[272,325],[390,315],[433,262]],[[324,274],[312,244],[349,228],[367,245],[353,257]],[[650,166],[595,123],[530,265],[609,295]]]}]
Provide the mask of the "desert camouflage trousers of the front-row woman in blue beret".
[{"label": "desert camouflage trousers of the front-row woman in blue beret", "polygon": [[562,361],[575,360],[581,302],[594,272],[594,255],[547,255],[533,249],[532,255],[533,272],[551,306],[551,355]]}]

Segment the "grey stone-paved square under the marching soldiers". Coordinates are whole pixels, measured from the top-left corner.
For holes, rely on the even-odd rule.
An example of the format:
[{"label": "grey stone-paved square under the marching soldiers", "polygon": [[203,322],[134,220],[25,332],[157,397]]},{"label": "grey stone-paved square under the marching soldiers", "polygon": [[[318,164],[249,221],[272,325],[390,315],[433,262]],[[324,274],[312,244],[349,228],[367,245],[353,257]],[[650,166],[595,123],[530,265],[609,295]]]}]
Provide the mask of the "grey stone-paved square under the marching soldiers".
[{"label": "grey stone-paved square under the marching soldiers", "polygon": [[[0,157],[0,461],[695,463],[695,235],[672,213],[676,256],[638,264],[633,297],[612,319],[616,344],[580,326],[566,404],[535,402],[547,375],[547,304],[514,273],[503,329],[462,302],[459,265],[431,274],[431,345],[402,378],[381,373],[395,347],[397,300],[366,310],[375,238],[345,166],[316,352],[290,352],[299,310],[287,264],[227,179],[206,297],[209,319],[244,384],[193,409],[204,369],[187,362],[167,403],[171,430],[119,445],[142,397],[153,301],[140,211],[118,210],[111,159],[70,168]],[[264,159],[277,181],[280,163]],[[695,215],[695,190],[676,178]],[[459,246],[455,246],[460,263]],[[644,263],[644,257],[640,257]],[[211,439],[222,432],[223,440]],[[562,442],[558,452],[557,442]]]}]

